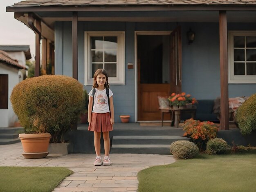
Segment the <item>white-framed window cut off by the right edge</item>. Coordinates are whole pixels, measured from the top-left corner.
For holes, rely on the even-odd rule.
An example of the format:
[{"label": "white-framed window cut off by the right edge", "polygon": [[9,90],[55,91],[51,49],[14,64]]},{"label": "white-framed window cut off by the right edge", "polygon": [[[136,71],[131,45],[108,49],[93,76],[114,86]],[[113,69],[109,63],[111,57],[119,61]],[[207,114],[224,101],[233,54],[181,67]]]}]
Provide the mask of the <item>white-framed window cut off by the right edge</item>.
[{"label": "white-framed window cut off by the right edge", "polygon": [[256,31],[229,31],[229,83],[256,83]]}]

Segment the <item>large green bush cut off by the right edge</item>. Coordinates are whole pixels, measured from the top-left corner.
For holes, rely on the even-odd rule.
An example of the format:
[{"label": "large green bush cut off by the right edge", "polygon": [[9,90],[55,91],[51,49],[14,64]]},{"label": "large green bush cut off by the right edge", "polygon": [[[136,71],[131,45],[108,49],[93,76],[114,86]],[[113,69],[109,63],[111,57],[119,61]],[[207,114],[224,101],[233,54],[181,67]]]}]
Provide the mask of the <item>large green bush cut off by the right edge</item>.
[{"label": "large green bush cut off by the right edge", "polygon": [[236,109],[236,122],[244,135],[256,130],[256,94],[250,96]]}]

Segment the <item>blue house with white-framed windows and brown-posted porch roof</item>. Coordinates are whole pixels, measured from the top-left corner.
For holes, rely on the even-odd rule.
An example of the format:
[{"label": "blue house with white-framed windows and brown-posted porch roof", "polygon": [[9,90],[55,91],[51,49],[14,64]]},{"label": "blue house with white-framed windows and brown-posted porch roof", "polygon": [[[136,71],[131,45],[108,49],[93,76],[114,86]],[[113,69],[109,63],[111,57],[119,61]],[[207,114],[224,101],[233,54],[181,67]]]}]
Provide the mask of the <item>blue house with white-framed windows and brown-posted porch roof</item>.
[{"label": "blue house with white-framed windows and brown-posted porch roof", "polygon": [[29,0],[7,11],[36,33],[36,76],[40,39],[54,44],[55,74],[88,91],[94,71],[108,71],[116,122],[160,120],[157,96],[182,91],[220,96],[229,129],[228,98],[256,90],[255,1]]}]

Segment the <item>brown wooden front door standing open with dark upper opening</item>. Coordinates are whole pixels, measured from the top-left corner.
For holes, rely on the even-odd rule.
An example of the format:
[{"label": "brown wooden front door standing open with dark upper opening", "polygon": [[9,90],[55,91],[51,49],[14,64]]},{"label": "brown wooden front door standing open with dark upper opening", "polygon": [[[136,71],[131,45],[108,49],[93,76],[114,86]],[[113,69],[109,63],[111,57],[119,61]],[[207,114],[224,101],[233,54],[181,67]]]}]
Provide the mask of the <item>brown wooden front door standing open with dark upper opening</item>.
[{"label": "brown wooden front door standing open with dark upper opening", "polygon": [[[181,69],[181,42],[174,41],[173,34],[177,39],[180,30],[171,35],[137,35],[138,121],[161,120],[157,96],[169,96],[181,90],[181,75],[180,83],[173,83]],[[170,116],[165,120],[170,120]]]}]

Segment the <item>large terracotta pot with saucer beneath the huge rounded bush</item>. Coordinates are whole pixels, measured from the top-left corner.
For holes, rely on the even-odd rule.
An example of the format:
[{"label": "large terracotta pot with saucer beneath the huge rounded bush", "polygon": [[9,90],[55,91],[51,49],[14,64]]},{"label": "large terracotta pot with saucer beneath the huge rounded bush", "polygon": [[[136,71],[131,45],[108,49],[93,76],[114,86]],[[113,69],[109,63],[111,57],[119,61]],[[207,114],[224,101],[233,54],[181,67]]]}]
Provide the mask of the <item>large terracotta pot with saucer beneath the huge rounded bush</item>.
[{"label": "large terracotta pot with saucer beneath the huge rounded bush", "polygon": [[22,155],[27,159],[44,158],[49,154],[48,146],[51,134],[19,134],[23,147]]}]

